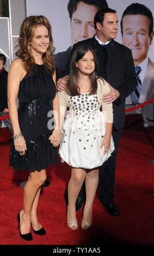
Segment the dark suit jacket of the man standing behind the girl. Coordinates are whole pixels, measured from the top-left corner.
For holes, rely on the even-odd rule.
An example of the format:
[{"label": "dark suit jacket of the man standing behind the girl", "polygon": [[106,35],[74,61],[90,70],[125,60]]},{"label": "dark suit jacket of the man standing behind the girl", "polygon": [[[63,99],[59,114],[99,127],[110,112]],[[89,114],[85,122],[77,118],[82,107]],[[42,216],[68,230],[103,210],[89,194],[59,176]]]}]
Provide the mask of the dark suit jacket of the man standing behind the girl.
[{"label": "dark suit jacket of the man standing behind the girl", "polygon": [[[61,77],[69,74],[72,53],[80,45],[88,45],[94,49],[98,61],[98,75],[105,78],[120,93],[120,97],[113,102],[113,126],[115,130],[120,130],[124,127],[125,122],[125,99],[137,86],[132,51],[114,40],[110,41],[106,46],[101,46],[95,36],[77,42],[77,44],[73,45],[66,69]],[[102,50],[102,47],[106,47],[107,51],[106,70],[103,70],[105,69],[103,59],[106,57],[103,56],[104,50]],[[104,68],[102,68],[103,66]]]}]

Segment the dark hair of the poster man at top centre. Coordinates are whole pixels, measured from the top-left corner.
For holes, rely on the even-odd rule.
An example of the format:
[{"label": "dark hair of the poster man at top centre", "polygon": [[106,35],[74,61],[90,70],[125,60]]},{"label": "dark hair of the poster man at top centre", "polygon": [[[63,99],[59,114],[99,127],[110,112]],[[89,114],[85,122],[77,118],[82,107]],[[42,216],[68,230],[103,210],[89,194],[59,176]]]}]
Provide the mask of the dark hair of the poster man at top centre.
[{"label": "dark hair of the poster man at top centre", "polygon": [[[85,4],[95,5],[98,10],[108,8],[106,0],[70,0],[67,4],[67,10],[69,11],[69,17],[72,19],[72,14],[77,9],[77,4],[83,2]],[[86,15],[86,14],[85,14]]]}]

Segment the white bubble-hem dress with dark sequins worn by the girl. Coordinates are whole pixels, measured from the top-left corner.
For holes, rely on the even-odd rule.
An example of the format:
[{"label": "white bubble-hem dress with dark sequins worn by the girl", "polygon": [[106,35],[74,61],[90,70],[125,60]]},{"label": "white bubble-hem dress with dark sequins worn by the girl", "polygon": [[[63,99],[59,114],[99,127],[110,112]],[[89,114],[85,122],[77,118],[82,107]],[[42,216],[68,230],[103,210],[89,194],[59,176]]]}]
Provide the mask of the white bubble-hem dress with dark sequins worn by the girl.
[{"label": "white bubble-hem dress with dark sequins worn by the girl", "polygon": [[100,146],[106,133],[106,113],[100,111],[97,94],[69,96],[68,106],[59,148],[61,161],[77,168],[101,166],[114,151],[114,142],[111,138],[109,151],[103,155]]}]

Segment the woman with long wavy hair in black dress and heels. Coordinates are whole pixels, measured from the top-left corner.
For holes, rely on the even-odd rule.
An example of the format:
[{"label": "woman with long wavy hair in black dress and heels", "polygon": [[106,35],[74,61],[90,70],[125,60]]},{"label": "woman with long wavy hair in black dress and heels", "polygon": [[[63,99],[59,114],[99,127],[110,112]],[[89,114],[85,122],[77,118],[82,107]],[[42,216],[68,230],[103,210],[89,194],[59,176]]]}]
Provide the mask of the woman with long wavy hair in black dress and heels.
[{"label": "woman with long wavy hair in black dress and heels", "polygon": [[45,168],[57,163],[56,147],[61,139],[50,22],[44,16],[27,17],[18,41],[19,58],[13,60],[8,74],[8,105],[14,130],[10,166],[29,170],[23,209],[17,217],[20,236],[32,240],[30,224],[35,234],[46,233],[36,211],[41,185],[46,180]]}]

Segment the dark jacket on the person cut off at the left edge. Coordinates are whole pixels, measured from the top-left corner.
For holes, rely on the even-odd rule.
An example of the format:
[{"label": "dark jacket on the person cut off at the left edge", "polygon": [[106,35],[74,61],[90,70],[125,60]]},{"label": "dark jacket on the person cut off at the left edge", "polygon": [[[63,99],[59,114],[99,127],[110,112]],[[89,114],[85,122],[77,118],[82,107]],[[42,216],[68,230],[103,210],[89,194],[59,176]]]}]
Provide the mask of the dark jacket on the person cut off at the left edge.
[{"label": "dark jacket on the person cut off at the left edge", "polygon": [[0,74],[0,111],[2,112],[4,108],[8,108],[8,96],[7,96],[7,86],[8,86],[8,71],[5,69]]}]

